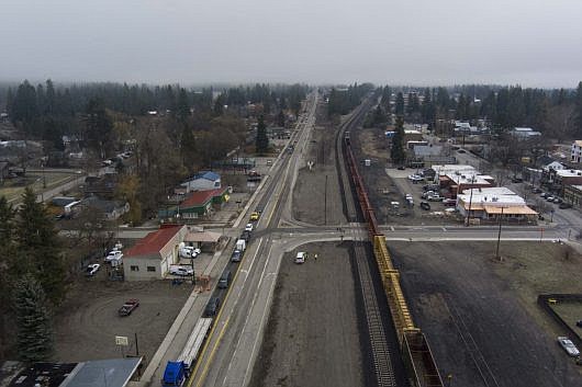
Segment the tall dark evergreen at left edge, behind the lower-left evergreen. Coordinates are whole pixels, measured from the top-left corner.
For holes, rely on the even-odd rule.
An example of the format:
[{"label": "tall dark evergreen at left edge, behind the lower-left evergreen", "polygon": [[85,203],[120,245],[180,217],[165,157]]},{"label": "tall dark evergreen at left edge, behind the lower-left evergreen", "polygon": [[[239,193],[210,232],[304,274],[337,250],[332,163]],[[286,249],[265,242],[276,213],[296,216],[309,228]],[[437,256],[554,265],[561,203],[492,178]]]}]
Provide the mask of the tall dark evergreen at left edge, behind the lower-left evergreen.
[{"label": "tall dark evergreen at left edge, behind the lower-left evergreen", "polygon": [[26,187],[22,195],[15,237],[18,250],[25,257],[19,269],[34,274],[48,299],[54,304],[60,303],[66,289],[60,243],[51,216],[44,204],[36,202],[31,187]]}]

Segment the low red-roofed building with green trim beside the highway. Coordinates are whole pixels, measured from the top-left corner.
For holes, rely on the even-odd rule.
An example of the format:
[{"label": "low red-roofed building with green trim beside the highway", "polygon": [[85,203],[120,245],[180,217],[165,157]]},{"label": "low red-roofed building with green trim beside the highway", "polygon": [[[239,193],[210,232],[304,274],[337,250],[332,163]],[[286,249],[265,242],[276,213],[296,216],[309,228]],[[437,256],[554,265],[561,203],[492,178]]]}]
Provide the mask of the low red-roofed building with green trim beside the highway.
[{"label": "low red-roofed building with green trim beside the highway", "polygon": [[214,209],[222,208],[228,200],[228,187],[191,192],[179,205],[160,209],[158,217],[160,219],[181,218],[184,221],[205,218]]}]

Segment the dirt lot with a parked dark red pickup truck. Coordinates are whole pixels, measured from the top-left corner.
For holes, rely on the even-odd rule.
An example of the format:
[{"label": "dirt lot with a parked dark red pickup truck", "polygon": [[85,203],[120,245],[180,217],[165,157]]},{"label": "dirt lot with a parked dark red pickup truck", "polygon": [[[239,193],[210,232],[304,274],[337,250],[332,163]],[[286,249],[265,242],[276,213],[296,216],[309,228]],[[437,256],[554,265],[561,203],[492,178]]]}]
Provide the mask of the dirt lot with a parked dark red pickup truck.
[{"label": "dirt lot with a parked dark red pickup truck", "polygon": [[[188,298],[188,285],[169,281],[111,282],[100,271],[94,278],[79,277],[55,318],[55,360],[80,362],[120,357],[115,335],[130,339],[124,354],[135,354],[135,333],[145,363],[152,358],[174,319]],[[139,307],[128,317],[119,317],[125,299],[138,298]]]}]

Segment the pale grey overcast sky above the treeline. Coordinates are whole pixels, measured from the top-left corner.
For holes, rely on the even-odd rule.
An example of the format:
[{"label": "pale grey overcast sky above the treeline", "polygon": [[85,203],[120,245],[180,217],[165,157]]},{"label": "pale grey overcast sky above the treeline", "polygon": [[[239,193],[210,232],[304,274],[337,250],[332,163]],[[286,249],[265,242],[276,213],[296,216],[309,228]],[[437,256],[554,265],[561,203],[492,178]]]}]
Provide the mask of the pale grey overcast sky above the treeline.
[{"label": "pale grey overcast sky above the treeline", "polygon": [[3,0],[0,80],[582,80],[580,0]]}]

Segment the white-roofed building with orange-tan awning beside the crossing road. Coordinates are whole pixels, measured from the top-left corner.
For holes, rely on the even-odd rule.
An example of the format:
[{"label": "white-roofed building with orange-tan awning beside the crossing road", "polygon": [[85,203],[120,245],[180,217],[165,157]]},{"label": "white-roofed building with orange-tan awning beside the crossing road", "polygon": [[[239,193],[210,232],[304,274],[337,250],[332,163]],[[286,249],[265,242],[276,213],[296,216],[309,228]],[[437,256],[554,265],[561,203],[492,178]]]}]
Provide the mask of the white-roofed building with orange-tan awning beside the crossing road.
[{"label": "white-roofed building with orange-tan awning beside the crossing road", "polygon": [[506,187],[480,187],[463,190],[457,195],[457,209],[467,218],[496,221],[535,221],[537,213],[523,197]]}]

